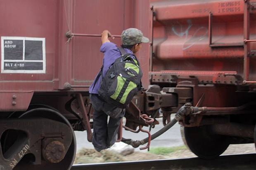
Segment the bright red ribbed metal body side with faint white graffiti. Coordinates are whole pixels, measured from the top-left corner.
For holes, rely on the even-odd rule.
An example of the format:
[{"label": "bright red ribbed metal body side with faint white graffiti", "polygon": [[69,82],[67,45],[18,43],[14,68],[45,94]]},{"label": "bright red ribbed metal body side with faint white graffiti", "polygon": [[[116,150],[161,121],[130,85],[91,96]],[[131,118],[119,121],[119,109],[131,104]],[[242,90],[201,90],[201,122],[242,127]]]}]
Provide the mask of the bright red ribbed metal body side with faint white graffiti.
[{"label": "bright red ribbed metal body side with faint white graffiti", "polygon": [[[193,76],[191,71],[235,71],[243,79],[255,81],[256,75],[249,69],[254,68],[255,60],[251,58],[249,66],[247,57],[256,49],[252,4],[254,0],[151,0],[155,12],[153,72],[183,70]],[[253,7],[247,9],[246,5]],[[244,39],[249,42],[244,44]],[[161,77],[155,79],[163,82]],[[215,83],[211,77],[201,81]],[[234,84],[235,80],[223,81]]]}]

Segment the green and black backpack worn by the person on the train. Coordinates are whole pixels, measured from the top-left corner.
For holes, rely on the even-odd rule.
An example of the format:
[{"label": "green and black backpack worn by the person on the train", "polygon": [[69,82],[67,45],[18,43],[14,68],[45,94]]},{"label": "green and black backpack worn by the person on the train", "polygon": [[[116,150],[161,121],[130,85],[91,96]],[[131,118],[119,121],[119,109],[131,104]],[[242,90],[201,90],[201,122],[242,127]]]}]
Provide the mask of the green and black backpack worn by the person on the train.
[{"label": "green and black backpack worn by the person on the train", "polygon": [[109,67],[102,79],[99,95],[109,104],[126,108],[142,87],[142,71],[134,54],[126,53],[123,48],[119,48],[119,51],[121,56]]}]

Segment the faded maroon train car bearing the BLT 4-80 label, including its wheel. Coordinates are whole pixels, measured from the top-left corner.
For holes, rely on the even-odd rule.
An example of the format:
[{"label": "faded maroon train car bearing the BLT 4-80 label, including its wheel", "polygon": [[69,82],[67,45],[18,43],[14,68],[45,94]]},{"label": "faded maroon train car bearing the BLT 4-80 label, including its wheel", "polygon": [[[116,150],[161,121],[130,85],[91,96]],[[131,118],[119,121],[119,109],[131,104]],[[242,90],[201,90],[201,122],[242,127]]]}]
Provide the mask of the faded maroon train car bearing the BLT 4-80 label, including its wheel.
[{"label": "faded maroon train car bearing the BLT 4-80 label, including its wheel", "polygon": [[[149,37],[149,1],[0,4],[0,169],[68,169],[76,153],[73,130],[88,129],[92,137],[88,87],[103,58],[95,34],[135,27]],[[114,43],[121,45],[120,38]],[[137,56],[148,86],[149,44],[143,46]]]}]

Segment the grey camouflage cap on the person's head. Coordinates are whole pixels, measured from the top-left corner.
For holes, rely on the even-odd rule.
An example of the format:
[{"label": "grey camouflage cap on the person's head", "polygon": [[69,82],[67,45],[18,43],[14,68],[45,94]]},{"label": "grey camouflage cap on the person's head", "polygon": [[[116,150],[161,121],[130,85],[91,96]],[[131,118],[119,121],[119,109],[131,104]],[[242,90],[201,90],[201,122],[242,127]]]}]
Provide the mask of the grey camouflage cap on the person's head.
[{"label": "grey camouflage cap on the person's head", "polygon": [[134,45],[141,42],[149,42],[149,39],[147,37],[143,37],[141,30],[138,30],[137,28],[128,28],[123,30],[121,40],[123,45]]}]

